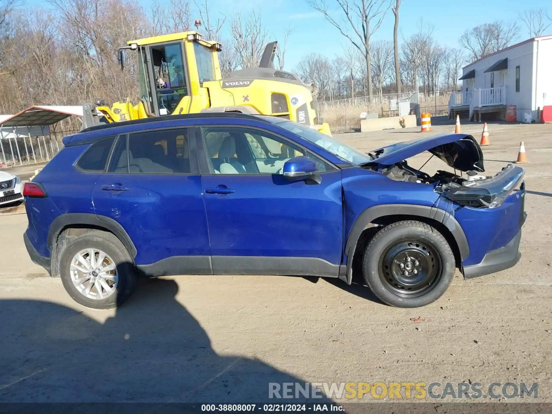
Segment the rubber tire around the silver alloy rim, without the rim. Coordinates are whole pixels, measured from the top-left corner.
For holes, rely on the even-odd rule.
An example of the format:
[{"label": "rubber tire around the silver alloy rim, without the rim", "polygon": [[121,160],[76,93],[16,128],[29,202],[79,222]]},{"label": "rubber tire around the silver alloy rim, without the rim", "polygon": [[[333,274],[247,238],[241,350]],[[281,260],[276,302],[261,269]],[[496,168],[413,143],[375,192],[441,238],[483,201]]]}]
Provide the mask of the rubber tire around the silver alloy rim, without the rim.
[{"label": "rubber tire around the silver alloy rim, without the rim", "polygon": [[[75,255],[87,248],[107,253],[116,266],[118,283],[115,292],[105,299],[89,299],[78,291],[71,279],[71,261]],[[136,288],[134,261],[119,239],[107,231],[94,230],[73,238],[60,258],[60,276],[63,287],[77,303],[93,309],[112,309],[130,298]]]}]

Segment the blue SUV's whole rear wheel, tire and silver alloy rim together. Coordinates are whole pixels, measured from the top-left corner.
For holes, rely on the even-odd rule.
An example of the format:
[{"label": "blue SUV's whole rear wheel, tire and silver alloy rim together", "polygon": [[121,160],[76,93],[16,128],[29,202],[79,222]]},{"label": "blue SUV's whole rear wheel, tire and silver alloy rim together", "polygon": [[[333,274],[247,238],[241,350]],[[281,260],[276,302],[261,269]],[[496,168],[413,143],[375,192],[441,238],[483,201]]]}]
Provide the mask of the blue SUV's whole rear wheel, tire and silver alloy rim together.
[{"label": "blue SUV's whole rear wheel, tire and silver alloy rim together", "polygon": [[60,259],[60,275],[76,302],[94,309],[122,304],[134,291],[134,263],[112,233],[94,230],[71,240]]}]

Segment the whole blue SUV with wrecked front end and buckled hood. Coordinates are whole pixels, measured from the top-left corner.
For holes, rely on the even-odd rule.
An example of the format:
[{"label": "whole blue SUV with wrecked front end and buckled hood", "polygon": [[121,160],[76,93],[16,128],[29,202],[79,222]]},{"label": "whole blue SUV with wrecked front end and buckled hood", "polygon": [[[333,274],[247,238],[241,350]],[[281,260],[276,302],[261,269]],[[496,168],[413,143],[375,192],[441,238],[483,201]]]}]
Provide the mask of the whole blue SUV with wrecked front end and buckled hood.
[{"label": "whole blue SUV with wrecked front end and buckled hood", "polygon": [[[353,274],[386,304],[427,305],[465,278],[514,266],[523,169],[486,177],[470,135],[362,153],[283,118],[172,115],[93,126],[24,197],[31,259],[68,294],[117,306],[139,275]],[[405,161],[429,151],[450,169]]]}]

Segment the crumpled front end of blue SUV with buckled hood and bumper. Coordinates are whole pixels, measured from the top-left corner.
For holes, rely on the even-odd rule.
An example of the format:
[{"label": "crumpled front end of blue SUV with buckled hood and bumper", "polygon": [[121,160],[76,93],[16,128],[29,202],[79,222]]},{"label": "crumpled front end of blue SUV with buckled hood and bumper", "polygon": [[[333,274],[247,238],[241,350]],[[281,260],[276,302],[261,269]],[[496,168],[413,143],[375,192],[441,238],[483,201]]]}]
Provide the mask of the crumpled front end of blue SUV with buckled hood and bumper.
[{"label": "crumpled front end of blue SUV with buckled hood and bumper", "polygon": [[[429,175],[421,171],[427,161],[420,169],[409,166],[407,158],[423,151],[431,153],[430,159],[440,158],[454,172],[439,170]],[[453,216],[469,245],[469,254],[461,257],[458,266],[465,278],[494,273],[517,263],[521,257],[521,227],[527,216],[523,168],[508,164],[492,176],[484,175],[481,148],[473,136],[466,134],[400,142],[369,155],[372,160],[363,168],[393,181],[426,186],[427,191],[438,195],[433,198],[432,208]],[[426,191],[421,193],[431,199]]]}]

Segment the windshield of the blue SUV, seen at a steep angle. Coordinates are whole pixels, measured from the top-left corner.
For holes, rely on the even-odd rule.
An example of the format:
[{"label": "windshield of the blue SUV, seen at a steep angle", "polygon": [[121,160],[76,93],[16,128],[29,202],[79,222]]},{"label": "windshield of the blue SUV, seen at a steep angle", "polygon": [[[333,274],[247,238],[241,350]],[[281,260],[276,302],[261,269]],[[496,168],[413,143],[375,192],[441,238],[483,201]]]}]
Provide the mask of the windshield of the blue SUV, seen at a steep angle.
[{"label": "windshield of the blue SUV, seen at a steep angle", "polygon": [[330,151],[333,155],[341,158],[343,161],[347,161],[355,165],[372,161],[372,158],[368,154],[355,150],[355,148],[349,147],[348,145],[333,139],[331,136],[322,134],[322,132],[309,128],[309,126],[268,117],[266,119],[273,124],[277,124],[278,126],[299,135],[301,138],[312,142],[312,144],[321,146],[326,151]]}]

